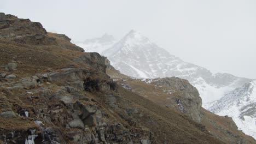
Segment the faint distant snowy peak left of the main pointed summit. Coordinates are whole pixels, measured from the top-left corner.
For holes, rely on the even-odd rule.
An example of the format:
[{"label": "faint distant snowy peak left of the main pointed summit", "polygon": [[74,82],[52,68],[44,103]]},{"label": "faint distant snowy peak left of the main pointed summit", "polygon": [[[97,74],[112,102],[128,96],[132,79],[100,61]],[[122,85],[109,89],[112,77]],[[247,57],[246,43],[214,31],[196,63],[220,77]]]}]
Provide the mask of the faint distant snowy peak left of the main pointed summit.
[{"label": "faint distant snowy peak left of the main pointed summit", "polygon": [[111,47],[115,42],[116,41],[112,35],[104,34],[100,38],[87,39],[83,42],[75,42],[75,44],[82,47],[85,52],[101,53]]}]

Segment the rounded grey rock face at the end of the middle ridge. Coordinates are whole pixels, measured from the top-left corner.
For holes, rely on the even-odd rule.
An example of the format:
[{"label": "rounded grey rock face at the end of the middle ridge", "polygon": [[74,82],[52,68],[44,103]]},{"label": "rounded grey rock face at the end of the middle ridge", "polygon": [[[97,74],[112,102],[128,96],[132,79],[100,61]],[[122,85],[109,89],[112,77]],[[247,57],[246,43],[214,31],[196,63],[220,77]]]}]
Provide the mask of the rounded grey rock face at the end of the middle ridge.
[{"label": "rounded grey rock face at the end of the middle ridge", "polygon": [[171,105],[178,106],[179,111],[187,113],[194,121],[201,122],[202,99],[197,89],[190,85],[188,80],[179,79],[178,77],[166,77],[153,83],[181,91],[181,94],[176,95],[175,99],[173,98]]}]

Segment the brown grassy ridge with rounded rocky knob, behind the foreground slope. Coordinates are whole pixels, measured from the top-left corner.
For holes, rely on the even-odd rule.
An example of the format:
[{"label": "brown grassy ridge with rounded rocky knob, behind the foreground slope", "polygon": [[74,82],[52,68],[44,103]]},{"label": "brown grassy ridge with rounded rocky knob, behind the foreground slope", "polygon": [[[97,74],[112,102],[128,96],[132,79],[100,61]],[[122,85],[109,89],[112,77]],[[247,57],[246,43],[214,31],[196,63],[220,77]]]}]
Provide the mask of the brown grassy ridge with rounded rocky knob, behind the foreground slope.
[{"label": "brown grassy ridge with rounded rocky knob, behind the foreground slope", "polygon": [[161,79],[132,79],[119,71],[108,69],[107,74],[125,89],[135,92],[153,103],[183,113],[204,125],[205,129],[225,143],[255,143],[252,137],[238,130],[228,116],[215,115],[201,106],[197,89],[178,77]]}]

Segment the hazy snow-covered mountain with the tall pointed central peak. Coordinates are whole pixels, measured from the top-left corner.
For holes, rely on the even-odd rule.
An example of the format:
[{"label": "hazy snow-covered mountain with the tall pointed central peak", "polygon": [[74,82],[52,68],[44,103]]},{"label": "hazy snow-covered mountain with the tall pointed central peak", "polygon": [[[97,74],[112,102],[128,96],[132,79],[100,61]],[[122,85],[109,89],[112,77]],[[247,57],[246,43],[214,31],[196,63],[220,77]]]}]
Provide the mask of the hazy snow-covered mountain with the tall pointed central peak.
[{"label": "hazy snow-covered mountain with the tall pointed central peak", "polygon": [[100,53],[125,75],[150,79],[176,76],[189,80],[199,90],[206,108],[207,103],[250,81],[231,74],[212,74],[210,70],[184,62],[135,31]]}]

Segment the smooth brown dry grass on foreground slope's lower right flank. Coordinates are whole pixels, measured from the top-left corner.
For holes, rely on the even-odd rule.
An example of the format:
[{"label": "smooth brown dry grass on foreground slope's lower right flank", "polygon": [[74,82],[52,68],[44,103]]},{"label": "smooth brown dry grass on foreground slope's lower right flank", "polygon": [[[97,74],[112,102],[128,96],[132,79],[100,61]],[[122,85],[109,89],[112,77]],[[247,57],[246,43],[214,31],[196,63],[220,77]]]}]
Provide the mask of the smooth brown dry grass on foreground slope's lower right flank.
[{"label": "smooth brown dry grass on foreground slope's lower right flank", "polygon": [[[223,143],[202,131],[202,125],[182,113],[154,104],[124,88],[119,88],[118,91],[127,101],[143,110],[144,116],[139,118],[140,124],[152,130],[160,143],[164,140],[167,143]],[[122,105],[129,107],[127,104]]]}]

